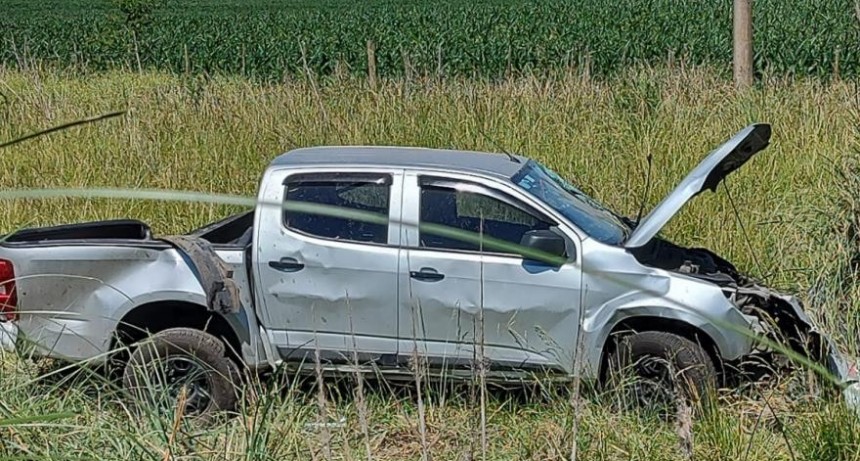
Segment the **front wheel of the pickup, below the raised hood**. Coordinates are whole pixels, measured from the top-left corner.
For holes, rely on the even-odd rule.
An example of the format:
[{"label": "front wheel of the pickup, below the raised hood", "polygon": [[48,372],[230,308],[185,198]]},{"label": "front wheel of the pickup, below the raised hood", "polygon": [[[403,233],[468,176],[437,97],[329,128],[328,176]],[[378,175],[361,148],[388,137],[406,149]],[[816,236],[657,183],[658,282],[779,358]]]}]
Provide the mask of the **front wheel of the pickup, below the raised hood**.
[{"label": "front wheel of the pickup, below the raised hood", "polygon": [[[672,411],[679,398],[705,402],[717,386],[714,362],[702,346],[660,331],[620,338],[608,372],[610,383],[622,387],[625,403],[655,410]],[[633,382],[622,381],[625,376]]]}]

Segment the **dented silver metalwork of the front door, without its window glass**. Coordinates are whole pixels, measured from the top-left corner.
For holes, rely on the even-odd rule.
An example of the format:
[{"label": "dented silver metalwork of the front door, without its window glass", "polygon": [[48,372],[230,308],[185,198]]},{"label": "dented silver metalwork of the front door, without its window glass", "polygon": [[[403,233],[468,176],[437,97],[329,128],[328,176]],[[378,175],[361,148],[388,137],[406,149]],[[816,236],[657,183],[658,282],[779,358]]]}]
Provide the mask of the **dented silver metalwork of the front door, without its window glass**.
[{"label": "dented silver metalwork of the front door, without its window glass", "polygon": [[430,361],[468,363],[482,345],[496,368],[569,371],[579,322],[577,265],[422,248],[419,176],[404,178],[401,351],[409,345]]}]

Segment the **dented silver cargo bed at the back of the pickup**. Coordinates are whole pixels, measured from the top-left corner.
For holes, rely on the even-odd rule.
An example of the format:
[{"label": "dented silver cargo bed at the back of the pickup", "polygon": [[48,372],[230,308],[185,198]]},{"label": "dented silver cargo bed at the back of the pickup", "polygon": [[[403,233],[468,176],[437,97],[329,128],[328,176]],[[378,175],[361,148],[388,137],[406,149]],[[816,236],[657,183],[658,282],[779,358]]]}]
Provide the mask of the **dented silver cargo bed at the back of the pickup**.
[{"label": "dented silver cargo bed at the back of the pickup", "polygon": [[244,239],[250,242],[252,223],[253,213],[234,215],[169,241],[136,220],[13,232],[0,243],[0,259],[15,271],[16,328],[38,346],[36,355],[84,360],[109,350],[113,332],[135,307],[161,304],[168,316],[177,303],[212,307],[209,282],[219,274],[211,275],[211,264],[198,263],[214,260],[194,259],[177,248],[178,241],[198,239],[216,250],[198,257],[216,258],[232,274],[241,299],[229,298],[230,306],[250,310]]}]

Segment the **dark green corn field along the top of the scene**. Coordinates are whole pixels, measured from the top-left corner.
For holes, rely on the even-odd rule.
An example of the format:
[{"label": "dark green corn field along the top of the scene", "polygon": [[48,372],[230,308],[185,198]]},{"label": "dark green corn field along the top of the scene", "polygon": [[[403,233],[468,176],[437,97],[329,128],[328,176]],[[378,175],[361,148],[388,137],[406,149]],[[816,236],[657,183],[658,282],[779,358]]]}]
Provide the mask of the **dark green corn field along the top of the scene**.
[{"label": "dark green corn field along the top of the scene", "polygon": [[[0,0],[0,63],[279,80],[731,67],[731,1]],[[756,0],[758,73],[860,74],[854,0]]]}]

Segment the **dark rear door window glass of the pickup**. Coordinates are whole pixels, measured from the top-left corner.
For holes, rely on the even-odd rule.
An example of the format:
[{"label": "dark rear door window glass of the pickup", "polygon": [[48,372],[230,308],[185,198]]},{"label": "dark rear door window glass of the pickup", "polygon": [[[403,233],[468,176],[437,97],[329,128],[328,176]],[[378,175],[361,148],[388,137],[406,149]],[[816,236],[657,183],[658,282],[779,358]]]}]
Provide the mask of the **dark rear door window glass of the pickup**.
[{"label": "dark rear door window glass of the pickup", "polygon": [[287,178],[284,186],[288,229],[334,240],[388,242],[390,175],[303,174]]}]

